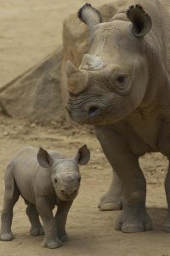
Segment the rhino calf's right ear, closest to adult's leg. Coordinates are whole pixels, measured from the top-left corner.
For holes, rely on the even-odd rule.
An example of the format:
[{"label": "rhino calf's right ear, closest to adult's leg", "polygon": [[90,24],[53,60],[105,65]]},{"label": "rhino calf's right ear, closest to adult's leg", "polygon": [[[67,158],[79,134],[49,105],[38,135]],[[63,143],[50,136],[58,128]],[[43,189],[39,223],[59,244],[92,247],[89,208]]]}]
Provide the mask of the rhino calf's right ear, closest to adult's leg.
[{"label": "rhino calf's right ear, closest to adult's leg", "polygon": [[90,160],[90,150],[86,145],[83,145],[82,148],[78,149],[78,152],[74,158],[79,165],[87,165],[88,161]]}]

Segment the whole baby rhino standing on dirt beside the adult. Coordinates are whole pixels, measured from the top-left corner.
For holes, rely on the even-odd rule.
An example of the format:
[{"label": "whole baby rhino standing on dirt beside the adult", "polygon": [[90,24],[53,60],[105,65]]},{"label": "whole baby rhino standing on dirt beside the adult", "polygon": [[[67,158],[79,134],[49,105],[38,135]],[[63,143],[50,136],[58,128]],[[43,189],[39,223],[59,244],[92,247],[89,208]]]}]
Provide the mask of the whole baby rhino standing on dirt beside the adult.
[{"label": "whole baby rhino standing on dirt beside the adult", "polygon": [[[21,149],[10,161],[5,174],[5,194],[1,215],[1,240],[14,238],[11,231],[13,207],[21,195],[31,222],[32,236],[43,235],[42,247],[56,248],[67,241],[65,223],[77,196],[81,175],[79,165],[86,165],[90,151],[84,145],[72,159],[40,148]],[[58,206],[55,216],[53,209]],[[42,218],[40,223],[39,216]]]}]

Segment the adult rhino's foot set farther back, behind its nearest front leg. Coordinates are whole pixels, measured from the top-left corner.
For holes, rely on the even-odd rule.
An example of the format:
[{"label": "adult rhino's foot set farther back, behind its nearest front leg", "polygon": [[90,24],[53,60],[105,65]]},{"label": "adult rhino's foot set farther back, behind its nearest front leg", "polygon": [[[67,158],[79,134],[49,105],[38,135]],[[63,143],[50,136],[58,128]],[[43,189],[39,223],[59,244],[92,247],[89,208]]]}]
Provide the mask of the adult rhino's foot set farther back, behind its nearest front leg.
[{"label": "adult rhino's foot set farther back, behind its nearest front leg", "polygon": [[122,210],[122,198],[106,193],[100,198],[98,208],[100,211]]}]

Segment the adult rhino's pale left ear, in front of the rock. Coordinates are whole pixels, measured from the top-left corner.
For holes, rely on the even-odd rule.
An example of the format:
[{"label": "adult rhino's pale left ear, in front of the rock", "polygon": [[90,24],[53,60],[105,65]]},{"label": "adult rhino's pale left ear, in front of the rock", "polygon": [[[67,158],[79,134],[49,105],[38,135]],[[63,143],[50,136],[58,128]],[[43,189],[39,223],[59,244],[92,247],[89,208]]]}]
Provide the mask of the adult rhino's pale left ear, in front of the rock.
[{"label": "adult rhino's pale left ear, in front of the rock", "polygon": [[94,9],[90,3],[86,3],[79,9],[77,16],[82,22],[88,25],[91,32],[95,25],[102,22],[102,17],[98,9]]}]

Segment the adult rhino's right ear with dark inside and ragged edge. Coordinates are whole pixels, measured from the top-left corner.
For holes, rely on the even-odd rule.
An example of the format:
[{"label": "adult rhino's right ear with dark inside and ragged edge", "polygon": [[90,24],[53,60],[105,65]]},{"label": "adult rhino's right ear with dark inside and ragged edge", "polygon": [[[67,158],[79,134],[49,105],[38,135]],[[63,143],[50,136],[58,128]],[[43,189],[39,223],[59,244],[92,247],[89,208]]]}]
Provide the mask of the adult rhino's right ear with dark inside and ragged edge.
[{"label": "adult rhino's right ear with dark inside and ragged edge", "polygon": [[132,32],[136,38],[143,38],[151,28],[151,19],[150,15],[144,12],[144,9],[141,5],[132,5],[127,10],[127,18],[133,24]]}]

